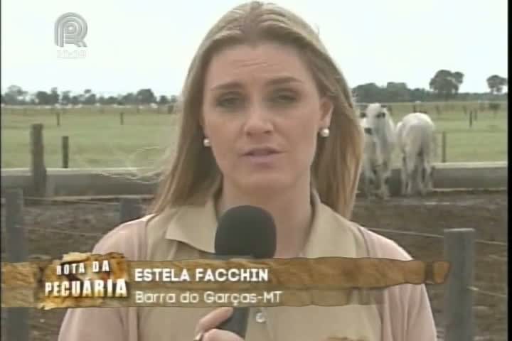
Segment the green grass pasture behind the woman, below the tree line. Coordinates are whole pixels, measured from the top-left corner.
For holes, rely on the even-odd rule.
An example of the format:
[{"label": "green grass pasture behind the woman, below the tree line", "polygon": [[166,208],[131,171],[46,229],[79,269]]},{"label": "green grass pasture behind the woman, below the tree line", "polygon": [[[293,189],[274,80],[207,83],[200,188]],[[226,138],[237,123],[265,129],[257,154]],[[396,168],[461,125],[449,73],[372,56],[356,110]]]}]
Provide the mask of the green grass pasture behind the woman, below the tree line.
[{"label": "green grass pasture behind the woman, below the tree line", "polygon": [[[412,112],[413,104],[390,104],[398,122]],[[467,114],[464,114],[464,106]],[[417,104],[437,125],[441,161],[441,131],[447,132],[447,162],[506,161],[507,104],[491,112],[476,102]],[[469,127],[469,111],[478,114]],[[124,112],[120,124],[119,112]],[[55,110],[55,112],[57,112]],[[146,167],[154,165],[166,147],[174,145],[176,116],[155,109],[97,107],[65,109],[60,126],[51,109],[2,108],[1,168],[25,168],[30,165],[30,126],[44,126],[45,163],[49,168],[62,166],[61,137],[69,136],[72,168]],[[165,112],[161,109],[161,112]],[[397,155],[398,160],[398,155]]]}]

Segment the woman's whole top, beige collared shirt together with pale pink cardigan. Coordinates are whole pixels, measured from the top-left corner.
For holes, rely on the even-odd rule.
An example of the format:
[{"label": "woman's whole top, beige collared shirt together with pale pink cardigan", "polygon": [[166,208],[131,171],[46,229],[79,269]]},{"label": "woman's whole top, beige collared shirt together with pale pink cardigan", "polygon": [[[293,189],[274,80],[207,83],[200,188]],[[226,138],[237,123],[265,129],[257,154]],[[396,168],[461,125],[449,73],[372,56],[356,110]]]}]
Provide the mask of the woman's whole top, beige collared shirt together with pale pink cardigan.
[{"label": "woman's whole top, beige collared shirt together with pale pink cardigan", "polygon": [[[313,224],[304,256],[410,258],[388,239],[359,229],[358,225],[338,215],[321,203],[317,195],[313,196],[313,207]],[[213,200],[204,206],[168,210],[149,223],[148,218],[112,230],[98,243],[95,252],[118,251],[128,259],[151,261],[208,258],[213,254],[217,227]],[[384,303],[388,306],[381,310],[378,305],[368,303],[341,307],[251,308],[245,340],[435,340],[424,286],[396,286],[386,291]],[[211,310],[213,308],[70,309],[59,341],[190,341],[198,320]],[[391,312],[396,318],[392,318]],[[408,316],[411,313],[415,316]]]}]

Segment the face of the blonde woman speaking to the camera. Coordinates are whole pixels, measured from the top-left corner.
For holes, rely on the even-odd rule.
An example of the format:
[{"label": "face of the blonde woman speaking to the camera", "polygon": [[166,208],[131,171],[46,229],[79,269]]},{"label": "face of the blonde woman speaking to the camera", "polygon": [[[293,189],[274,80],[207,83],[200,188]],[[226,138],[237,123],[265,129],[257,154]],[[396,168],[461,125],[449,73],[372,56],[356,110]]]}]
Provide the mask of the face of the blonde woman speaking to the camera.
[{"label": "face of the blonde woman speaking to the camera", "polygon": [[224,181],[240,190],[309,185],[316,136],[331,111],[292,47],[235,45],[206,70],[204,134]]}]

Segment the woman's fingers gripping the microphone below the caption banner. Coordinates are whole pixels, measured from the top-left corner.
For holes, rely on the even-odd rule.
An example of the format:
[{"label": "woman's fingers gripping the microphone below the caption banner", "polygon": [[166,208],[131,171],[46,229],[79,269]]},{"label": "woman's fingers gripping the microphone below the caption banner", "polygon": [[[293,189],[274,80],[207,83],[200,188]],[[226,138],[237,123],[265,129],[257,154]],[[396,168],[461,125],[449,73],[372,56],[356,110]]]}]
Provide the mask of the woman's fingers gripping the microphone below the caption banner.
[{"label": "woman's fingers gripping the microphone below the caption banner", "polygon": [[[233,308],[218,308],[199,320],[196,325],[196,338],[194,341],[244,341],[234,332],[215,329],[220,323],[230,318]],[[203,335],[201,337],[201,335]]]}]

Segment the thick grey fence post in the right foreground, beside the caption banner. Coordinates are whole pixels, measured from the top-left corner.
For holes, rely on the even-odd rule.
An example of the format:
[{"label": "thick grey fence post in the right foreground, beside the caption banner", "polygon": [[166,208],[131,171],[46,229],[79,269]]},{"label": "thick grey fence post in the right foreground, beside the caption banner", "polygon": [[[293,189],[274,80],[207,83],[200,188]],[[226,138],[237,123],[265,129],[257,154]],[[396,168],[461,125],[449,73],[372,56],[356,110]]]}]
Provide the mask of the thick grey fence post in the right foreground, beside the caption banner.
[{"label": "thick grey fence post in the right foreground, beside the caption banner", "polygon": [[444,341],[472,341],[474,229],[445,229],[444,259],[450,264],[444,285]]}]

